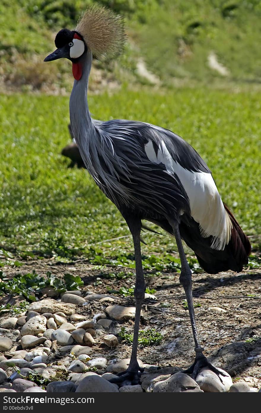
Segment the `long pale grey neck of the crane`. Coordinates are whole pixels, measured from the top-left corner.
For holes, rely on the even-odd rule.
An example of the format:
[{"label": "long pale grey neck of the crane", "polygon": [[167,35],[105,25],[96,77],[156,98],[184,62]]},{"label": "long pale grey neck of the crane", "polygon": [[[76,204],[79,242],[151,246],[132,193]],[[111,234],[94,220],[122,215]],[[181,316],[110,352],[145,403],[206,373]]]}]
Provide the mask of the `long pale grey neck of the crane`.
[{"label": "long pale grey neck of the crane", "polygon": [[97,133],[87,102],[87,89],[89,74],[92,67],[92,52],[87,51],[82,59],[82,77],[75,80],[70,97],[70,121],[73,136],[78,144],[80,153],[86,155],[89,153],[89,142],[91,137]]}]

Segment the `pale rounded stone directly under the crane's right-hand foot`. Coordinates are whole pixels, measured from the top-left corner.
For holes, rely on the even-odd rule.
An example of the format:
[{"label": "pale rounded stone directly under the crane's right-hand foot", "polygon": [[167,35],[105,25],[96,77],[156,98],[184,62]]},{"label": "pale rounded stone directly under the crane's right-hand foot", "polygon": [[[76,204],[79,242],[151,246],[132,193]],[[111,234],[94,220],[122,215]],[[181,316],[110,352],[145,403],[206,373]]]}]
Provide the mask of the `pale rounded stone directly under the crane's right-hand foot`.
[{"label": "pale rounded stone directly under the crane's right-hand foot", "polygon": [[212,393],[219,393],[219,392],[228,392],[230,387],[233,385],[233,381],[228,373],[221,368],[217,368],[222,373],[226,374],[226,376],[220,376],[222,382],[214,371],[209,370],[208,368],[202,368],[198,373],[195,381],[200,386],[200,389],[204,392],[212,392]]}]

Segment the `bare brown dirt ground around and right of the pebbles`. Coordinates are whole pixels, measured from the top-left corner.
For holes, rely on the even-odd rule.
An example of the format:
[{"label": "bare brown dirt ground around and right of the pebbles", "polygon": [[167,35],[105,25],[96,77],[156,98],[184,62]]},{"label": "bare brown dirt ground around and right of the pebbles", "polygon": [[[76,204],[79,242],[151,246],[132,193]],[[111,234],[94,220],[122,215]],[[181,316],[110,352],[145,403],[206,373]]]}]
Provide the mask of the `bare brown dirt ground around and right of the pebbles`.
[{"label": "bare brown dirt ground around and right of the pebbles", "polygon": [[[51,271],[56,277],[62,277],[64,273],[80,275],[85,283],[83,290],[100,294],[108,294],[107,286],[112,290],[127,286],[124,279],[102,278],[101,271],[94,268],[84,262],[68,265],[44,259],[29,261],[20,268],[6,267],[2,270],[8,277],[33,270],[39,275]],[[125,271],[124,268],[107,268],[108,272]],[[107,269],[103,270],[103,277],[106,271]],[[134,275],[134,270],[128,268],[126,271],[132,271]],[[101,285],[96,285],[97,277],[101,278]],[[155,295],[158,300],[145,300],[141,328],[154,328],[163,335],[163,340],[160,345],[139,349],[138,356],[143,363],[161,367],[173,366],[179,370],[188,368],[194,361],[194,342],[188,310],[183,304],[185,295],[179,284],[179,274],[162,273],[160,277],[147,274],[146,283],[147,287],[157,290]],[[200,304],[195,307],[195,314],[205,355],[216,366],[226,370],[234,381],[240,378],[260,389],[261,270],[248,270],[239,274],[227,272],[193,275],[193,297],[194,304]],[[86,306],[78,306],[77,313],[86,314],[87,319],[90,319],[94,314],[104,312],[106,306],[111,304],[115,303],[91,301]],[[133,297],[122,296],[119,296],[116,304],[135,305]],[[219,309],[211,309],[212,307]],[[6,318],[6,315],[1,318]],[[132,332],[134,321],[114,321],[108,333],[117,335],[123,326],[127,332]],[[110,350],[98,338],[93,347],[94,356],[104,356],[108,360],[126,358],[130,353],[131,346],[124,342]]]}]

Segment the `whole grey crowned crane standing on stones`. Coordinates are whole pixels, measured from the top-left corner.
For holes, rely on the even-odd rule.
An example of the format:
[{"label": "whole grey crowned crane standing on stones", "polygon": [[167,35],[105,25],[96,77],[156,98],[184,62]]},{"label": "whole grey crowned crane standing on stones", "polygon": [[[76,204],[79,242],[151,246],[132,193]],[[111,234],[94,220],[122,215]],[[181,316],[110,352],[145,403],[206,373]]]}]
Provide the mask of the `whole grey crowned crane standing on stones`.
[{"label": "whole grey crowned crane standing on stones", "polygon": [[181,259],[179,280],[186,293],[195,341],[195,362],[185,371],[195,378],[202,367],[208,366],[220,377],[223,373],[208,362],[200,345],[191,271],[181,240],[193,249],[200,266],[210,274],[242,271],[251,246],[223,204],[207,164],[180,136],[139,121],[92,119],[87,102],[92,57],[115,57],[124,43],[122,18],[103,7],[91,7],[75,30],[63,28],[57,33],[57,49],[45,58],[49,62],[64,57],[73,64],[75,80],[70,97],[73,136],[87,170],[119,209],[133,237],[136,316],[132,355],[127,371],[116,381],[139,381],[137,346],[145,290],[140,247],[143,219],[176,238]]}]

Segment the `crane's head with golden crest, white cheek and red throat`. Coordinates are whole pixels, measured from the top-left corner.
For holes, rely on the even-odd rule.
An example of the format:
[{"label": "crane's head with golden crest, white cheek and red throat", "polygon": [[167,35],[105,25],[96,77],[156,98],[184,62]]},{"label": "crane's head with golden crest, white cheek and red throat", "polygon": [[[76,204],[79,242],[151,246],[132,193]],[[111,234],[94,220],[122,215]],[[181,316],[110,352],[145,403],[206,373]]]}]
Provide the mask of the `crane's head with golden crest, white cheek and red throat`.
[{"label": "crane's head with golden crest, white cheek and red throat", "polygon": [[73,63],[73,76],[82,77],[82,62],[87,50],[98,59],[113,58],[122,52],[125,44],[122,17],[105,7],[94,5],[82,15],[75,30],[63,28],[56,34],[57,49],[45,57],[45,62],[65,57]]}]

